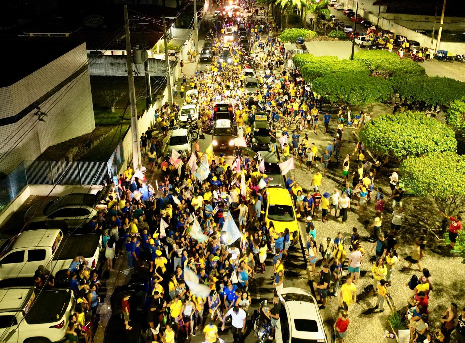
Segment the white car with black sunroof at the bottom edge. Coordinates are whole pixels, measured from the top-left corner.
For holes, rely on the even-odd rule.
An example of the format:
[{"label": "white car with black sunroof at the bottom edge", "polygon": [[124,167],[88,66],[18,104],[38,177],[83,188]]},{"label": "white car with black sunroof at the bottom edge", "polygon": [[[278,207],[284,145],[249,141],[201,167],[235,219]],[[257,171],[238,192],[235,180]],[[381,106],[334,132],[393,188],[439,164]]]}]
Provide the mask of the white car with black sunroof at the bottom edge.
[{"label": "white car with black sunroof at the bottom edge", "polygon": [[301,288],[278,290],[282,304],[276,323],[277,343],[331,342],[326,334],[318,303],[312,293]]}]

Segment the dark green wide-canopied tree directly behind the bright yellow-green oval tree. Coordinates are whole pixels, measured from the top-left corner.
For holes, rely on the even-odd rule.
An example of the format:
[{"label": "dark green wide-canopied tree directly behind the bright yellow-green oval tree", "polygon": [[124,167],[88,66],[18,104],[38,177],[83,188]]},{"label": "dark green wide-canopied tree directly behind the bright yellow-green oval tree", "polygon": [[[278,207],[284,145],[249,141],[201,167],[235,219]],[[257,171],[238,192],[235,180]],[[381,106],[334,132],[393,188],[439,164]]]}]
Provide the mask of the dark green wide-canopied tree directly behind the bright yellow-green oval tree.
[{"label": "dark green wide-canopied tree directly behind the bright yellow-green oval tree", "polygon": [[328,73],[314,79],[312,90],[325,94],[331,103],[341,101],[351,106],[385,101],[392,92],[391,85],[385,79],[347,72]]}]

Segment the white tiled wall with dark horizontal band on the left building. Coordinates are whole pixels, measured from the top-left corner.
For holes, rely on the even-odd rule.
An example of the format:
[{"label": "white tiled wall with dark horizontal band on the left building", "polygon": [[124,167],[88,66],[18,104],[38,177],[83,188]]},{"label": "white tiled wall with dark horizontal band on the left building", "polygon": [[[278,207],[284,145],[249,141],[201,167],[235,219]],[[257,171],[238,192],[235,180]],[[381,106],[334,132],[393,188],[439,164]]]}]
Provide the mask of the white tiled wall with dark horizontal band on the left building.
[{"label": "white tiled wall with dark horizontal band on the left building", "polygon": [[[0,88],[0,118],[20,112],[87,63],[82,44],[10,87]],[[23,160],[34,160],[50,145],[61,143],[95,127],[88,71],[45,100],[39,122],[31,111],[17,123],[0,129],[0,171],[9,173]]]}]

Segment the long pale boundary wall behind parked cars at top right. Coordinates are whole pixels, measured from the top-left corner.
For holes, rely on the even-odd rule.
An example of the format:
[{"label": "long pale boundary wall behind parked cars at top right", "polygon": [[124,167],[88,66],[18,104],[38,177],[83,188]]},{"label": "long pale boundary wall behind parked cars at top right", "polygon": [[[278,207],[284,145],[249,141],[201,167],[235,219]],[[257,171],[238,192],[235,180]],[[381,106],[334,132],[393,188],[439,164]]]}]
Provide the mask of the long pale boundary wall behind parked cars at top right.
[{"label": "long pale boundary wall behind parked cars at top right", "polygon": [[[348,0],[347,7],[352,8],[355,11],[355,7],[357,5],[356,0]],[[363,18],[370,20],[372,23],[376,24],[378,22],[378,16],[372,13],[365,12],[362,8],[359,7],[360,16]],[[401,14],[399,14],[401,15]],[[439,18],[438,18],[439,21]],[[427,37],[424,34],[415,32],[405,26],[395,23],[392,20],[380,17],[379,18],[379,27],[381,27],[385,31],[391,31],[396,35],[406,36],[409,40],[417,40],[420,43],[420,46],[431,47],[431,37]],[[438,25],[439,26],[439,23]],[[437,33],[436,33],[437,34]],[[436,47],[436,41],[433,40],[432,47]],[[454,56],[458,53],[465,52],[465,43],[456,43],[456,42],[444,42],[441,41],[440,47],[438,50],[447,50],[451,56]]]}]

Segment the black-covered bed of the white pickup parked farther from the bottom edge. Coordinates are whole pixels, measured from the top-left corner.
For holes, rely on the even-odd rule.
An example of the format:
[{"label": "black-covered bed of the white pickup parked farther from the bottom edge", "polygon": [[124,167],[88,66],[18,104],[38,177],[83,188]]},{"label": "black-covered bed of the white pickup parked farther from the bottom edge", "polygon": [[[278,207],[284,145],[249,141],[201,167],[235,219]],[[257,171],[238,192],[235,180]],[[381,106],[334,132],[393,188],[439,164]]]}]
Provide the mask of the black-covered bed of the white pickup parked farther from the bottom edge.
[{"label": "black-covered bed of the white pickup parked farther from the bottom edge", "polygon": [[98,233],[65,236],[53,257],[53,261],[72,260],[75,256],[81,255],[86,258],[93,257],[97,246],[100,246],[100,241],[101,236]]}]

